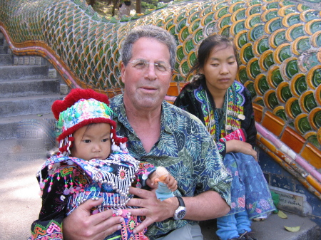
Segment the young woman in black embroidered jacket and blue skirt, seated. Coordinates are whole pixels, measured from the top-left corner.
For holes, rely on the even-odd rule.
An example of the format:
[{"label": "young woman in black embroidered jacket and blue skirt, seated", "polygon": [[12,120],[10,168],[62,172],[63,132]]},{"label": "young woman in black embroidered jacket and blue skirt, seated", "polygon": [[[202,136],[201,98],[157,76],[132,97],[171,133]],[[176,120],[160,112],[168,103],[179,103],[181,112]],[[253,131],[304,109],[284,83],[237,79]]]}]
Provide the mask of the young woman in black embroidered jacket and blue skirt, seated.
[{"label": "young woman in black embroidered jacket and blue skirt, seated", "polygon": [[219,35],[205,38],[189,75],[193,73],[174,104],[202,120],[233,177],[231,210],[218,218],[216,234],[222,240],[254,239],[250,236],[251,219],[266,216],[275,207],[256,161],[250,93],[235,80],[238,59],[233,41]]}]

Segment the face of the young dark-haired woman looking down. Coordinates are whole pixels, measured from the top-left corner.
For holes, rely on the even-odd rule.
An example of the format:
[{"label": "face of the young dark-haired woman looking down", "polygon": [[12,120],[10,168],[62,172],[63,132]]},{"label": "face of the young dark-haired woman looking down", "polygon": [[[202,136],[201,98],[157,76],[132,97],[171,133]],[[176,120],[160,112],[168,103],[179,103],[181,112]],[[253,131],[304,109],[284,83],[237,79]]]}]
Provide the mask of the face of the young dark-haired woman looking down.
[{"label": "face of the young dark-haired woman looking down", "polygon": [[233,46],[215,46],[200,73],[205,75],[206,85],[211,93],[225,92],[238,73]]}]

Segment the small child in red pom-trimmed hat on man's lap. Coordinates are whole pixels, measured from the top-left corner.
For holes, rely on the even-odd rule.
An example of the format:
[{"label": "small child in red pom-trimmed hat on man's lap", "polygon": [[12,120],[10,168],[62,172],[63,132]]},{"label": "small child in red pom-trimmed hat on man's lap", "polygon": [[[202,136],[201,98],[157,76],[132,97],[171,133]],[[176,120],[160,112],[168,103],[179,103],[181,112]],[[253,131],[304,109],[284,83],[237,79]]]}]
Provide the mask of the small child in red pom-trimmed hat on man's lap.
[{"label": "small child in red pom-trimmed hat on man's lap", "polygon": [[37,174],[42,207],[39,219],[31,226],[31,239],[63,239],[63,218],[88,199],[103,198],[92,214],[113,209],[114,216],[125,219],[121,230],[106,239],[147,240],[146,230],[133,234],[142,219],[131,216],[133,207],[126,206],[133,197],[128,193],[129,187],[135,180],[136,187],[146,187],[149,177],[153,186],[159,181],[168,186],[165,197],[161,193],[162,199],[173,197],[177,182],[166,170],[167,177],[158,176],[153,165],[128,154],[126,138],[116,136],[116,122],[108,104],[106,95],[73,89],[52,105],[61,130],[60,146],[58,155],[49,157]]}]

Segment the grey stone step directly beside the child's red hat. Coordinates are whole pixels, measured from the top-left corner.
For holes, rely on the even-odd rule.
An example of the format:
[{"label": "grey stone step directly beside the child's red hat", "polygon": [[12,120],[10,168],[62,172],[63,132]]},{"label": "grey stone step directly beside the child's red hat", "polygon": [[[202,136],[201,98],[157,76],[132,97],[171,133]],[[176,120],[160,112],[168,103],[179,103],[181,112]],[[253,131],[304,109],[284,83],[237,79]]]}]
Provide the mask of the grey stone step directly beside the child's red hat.
[{"label": "grey stone step directly beside the child's red hat", "polygon": [[1,118],[14,117],[19,115],[44,115],[51,113],[51,105],[63,95],[36,95],[19,98],[0,98]]}]

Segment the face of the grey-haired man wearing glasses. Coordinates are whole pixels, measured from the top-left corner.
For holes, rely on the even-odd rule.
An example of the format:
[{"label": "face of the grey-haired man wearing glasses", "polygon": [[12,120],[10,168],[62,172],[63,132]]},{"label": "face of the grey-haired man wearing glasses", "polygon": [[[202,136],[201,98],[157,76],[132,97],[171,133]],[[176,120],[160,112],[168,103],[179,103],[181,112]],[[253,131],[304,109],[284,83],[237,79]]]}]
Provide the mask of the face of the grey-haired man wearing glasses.
[{"label": "face of the grey-haired man wearing glasses", "polygon": [[125,84],[124,101],[137,110],[153,110],[161,107],[169,87],[172,70],[160,71],[152,63],[170,66],[170,53],[165,44],[153,38],[140,38],[133,44],[130,62],[151,63],[145,68],[128,63],[121,65],[121,79]]}]

